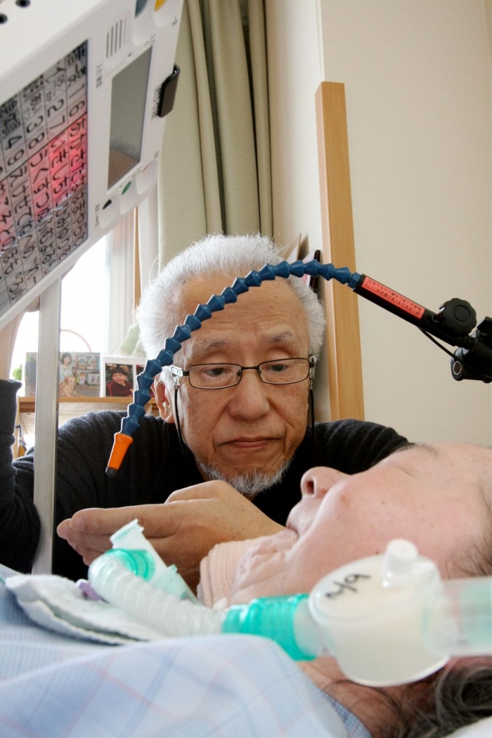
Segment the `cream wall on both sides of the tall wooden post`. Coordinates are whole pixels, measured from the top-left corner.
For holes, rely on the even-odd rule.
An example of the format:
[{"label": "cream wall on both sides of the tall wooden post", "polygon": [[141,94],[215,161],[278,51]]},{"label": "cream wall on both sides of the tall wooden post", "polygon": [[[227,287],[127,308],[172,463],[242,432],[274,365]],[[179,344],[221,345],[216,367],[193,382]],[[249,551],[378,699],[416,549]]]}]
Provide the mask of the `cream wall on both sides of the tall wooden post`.
[{"label": "cream wall on both sides of the tall wooden post", "polygon": [[[486,2],[266,2],[278,241],[321,240],[314,92],[342,82],[358,271],[434,311],[462,297],[479,319],[492,315]],[[417,328],[358,307],[366,418],[490,444],[491,385],[454,382]]]}]

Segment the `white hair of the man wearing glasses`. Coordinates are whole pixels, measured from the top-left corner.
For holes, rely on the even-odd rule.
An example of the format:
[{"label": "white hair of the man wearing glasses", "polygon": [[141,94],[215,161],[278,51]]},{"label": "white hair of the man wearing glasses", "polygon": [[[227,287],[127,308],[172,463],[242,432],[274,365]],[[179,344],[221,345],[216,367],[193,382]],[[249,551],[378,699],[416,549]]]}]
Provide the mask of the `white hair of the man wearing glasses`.
[{"label": "white hair of the man wearing glasses", "polygon": [[[148,358],[154,359],[164,348],[164,340],[173,335],[176,325],[184,322],[186,315],[179,314],[178,295],[188,280],[224,275],[224,287],[227,287],[228,277],[231,281],[245,277],[252,269],[259,270],[266,263],[280,263],[283,258],[283,252],[271,238],[260,234],[212,234],[184,249],[163,267],[142,294],[137,317],[140,340]],[[286,281],[305,310],[309,350],[317,357],[325,330],[325,311],[304,280],[288,277]]]}]

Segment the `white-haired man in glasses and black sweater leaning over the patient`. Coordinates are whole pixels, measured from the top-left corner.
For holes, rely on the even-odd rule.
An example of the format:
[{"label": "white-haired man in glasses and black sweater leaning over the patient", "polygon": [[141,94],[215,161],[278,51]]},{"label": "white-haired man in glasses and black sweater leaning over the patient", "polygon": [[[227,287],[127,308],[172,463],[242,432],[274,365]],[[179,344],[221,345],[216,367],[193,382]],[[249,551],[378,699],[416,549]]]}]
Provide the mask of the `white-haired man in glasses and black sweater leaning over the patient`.
[{"label": "white-haired man in glasses and black sweater leaning over the patient", "polygon": [[[235,277],[279,261],[276,246],[259,235],[212,235],[190,246],[142,297],[139,323],[149,358],[197,303]],[[285,525],[308,468],[353,474],[405,444],[394,430],[360,421],[316,424],[313,434],[307,429],[322,331],[322,308],[296,277],[263,283],[214,314],[184,342],[173,368],[156,378],[160,418],[142,418],[114,478],[105,466],[122,413],[89,413],[66,423],[58,441],[55,573],[85,576],[109,536],[138,517],[164,561],[176,563],[194,585],[199,562],[215,543]],[[0,382],[0,561],[27,570],[39,524],[32,452],[14,463],[10,457],[17,388]],[[211,483],[199,499],[186,489],[217,479],[235,489]]]}]

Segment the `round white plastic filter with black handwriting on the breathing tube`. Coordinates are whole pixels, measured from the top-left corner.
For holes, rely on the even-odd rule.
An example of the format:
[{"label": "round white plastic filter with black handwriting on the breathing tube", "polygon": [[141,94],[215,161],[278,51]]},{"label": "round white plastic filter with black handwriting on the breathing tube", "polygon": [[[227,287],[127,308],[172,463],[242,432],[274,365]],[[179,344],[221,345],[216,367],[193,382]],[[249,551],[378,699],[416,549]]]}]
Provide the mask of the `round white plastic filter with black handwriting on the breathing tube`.
[{"label": "round white plastic filter with black handwriting on the breathing tube", "polygon": [[384,557],[342,566],[311,591],[311,615],[353,681],[403,684],[448,661],[449,654],[437,654],[423,641],[425,613],[443,587],[436,565],[415,554],[412,543],[396,539]]}]

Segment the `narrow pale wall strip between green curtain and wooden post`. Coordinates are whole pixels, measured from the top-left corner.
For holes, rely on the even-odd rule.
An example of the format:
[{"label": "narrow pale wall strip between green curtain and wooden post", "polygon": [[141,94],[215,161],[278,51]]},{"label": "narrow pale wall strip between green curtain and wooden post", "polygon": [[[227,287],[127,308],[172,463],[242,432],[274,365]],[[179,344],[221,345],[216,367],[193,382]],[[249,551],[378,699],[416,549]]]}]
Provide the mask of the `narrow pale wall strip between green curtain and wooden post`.
[{"label": "narrow pale wall strip between green curtain and wooden post", "polygon": [[[316,0],[266,0],[274,239],[302,255],[321,247],[314,94],[323,78]],[[314,384],[317,420],[329,419],[325,365]]]}]

